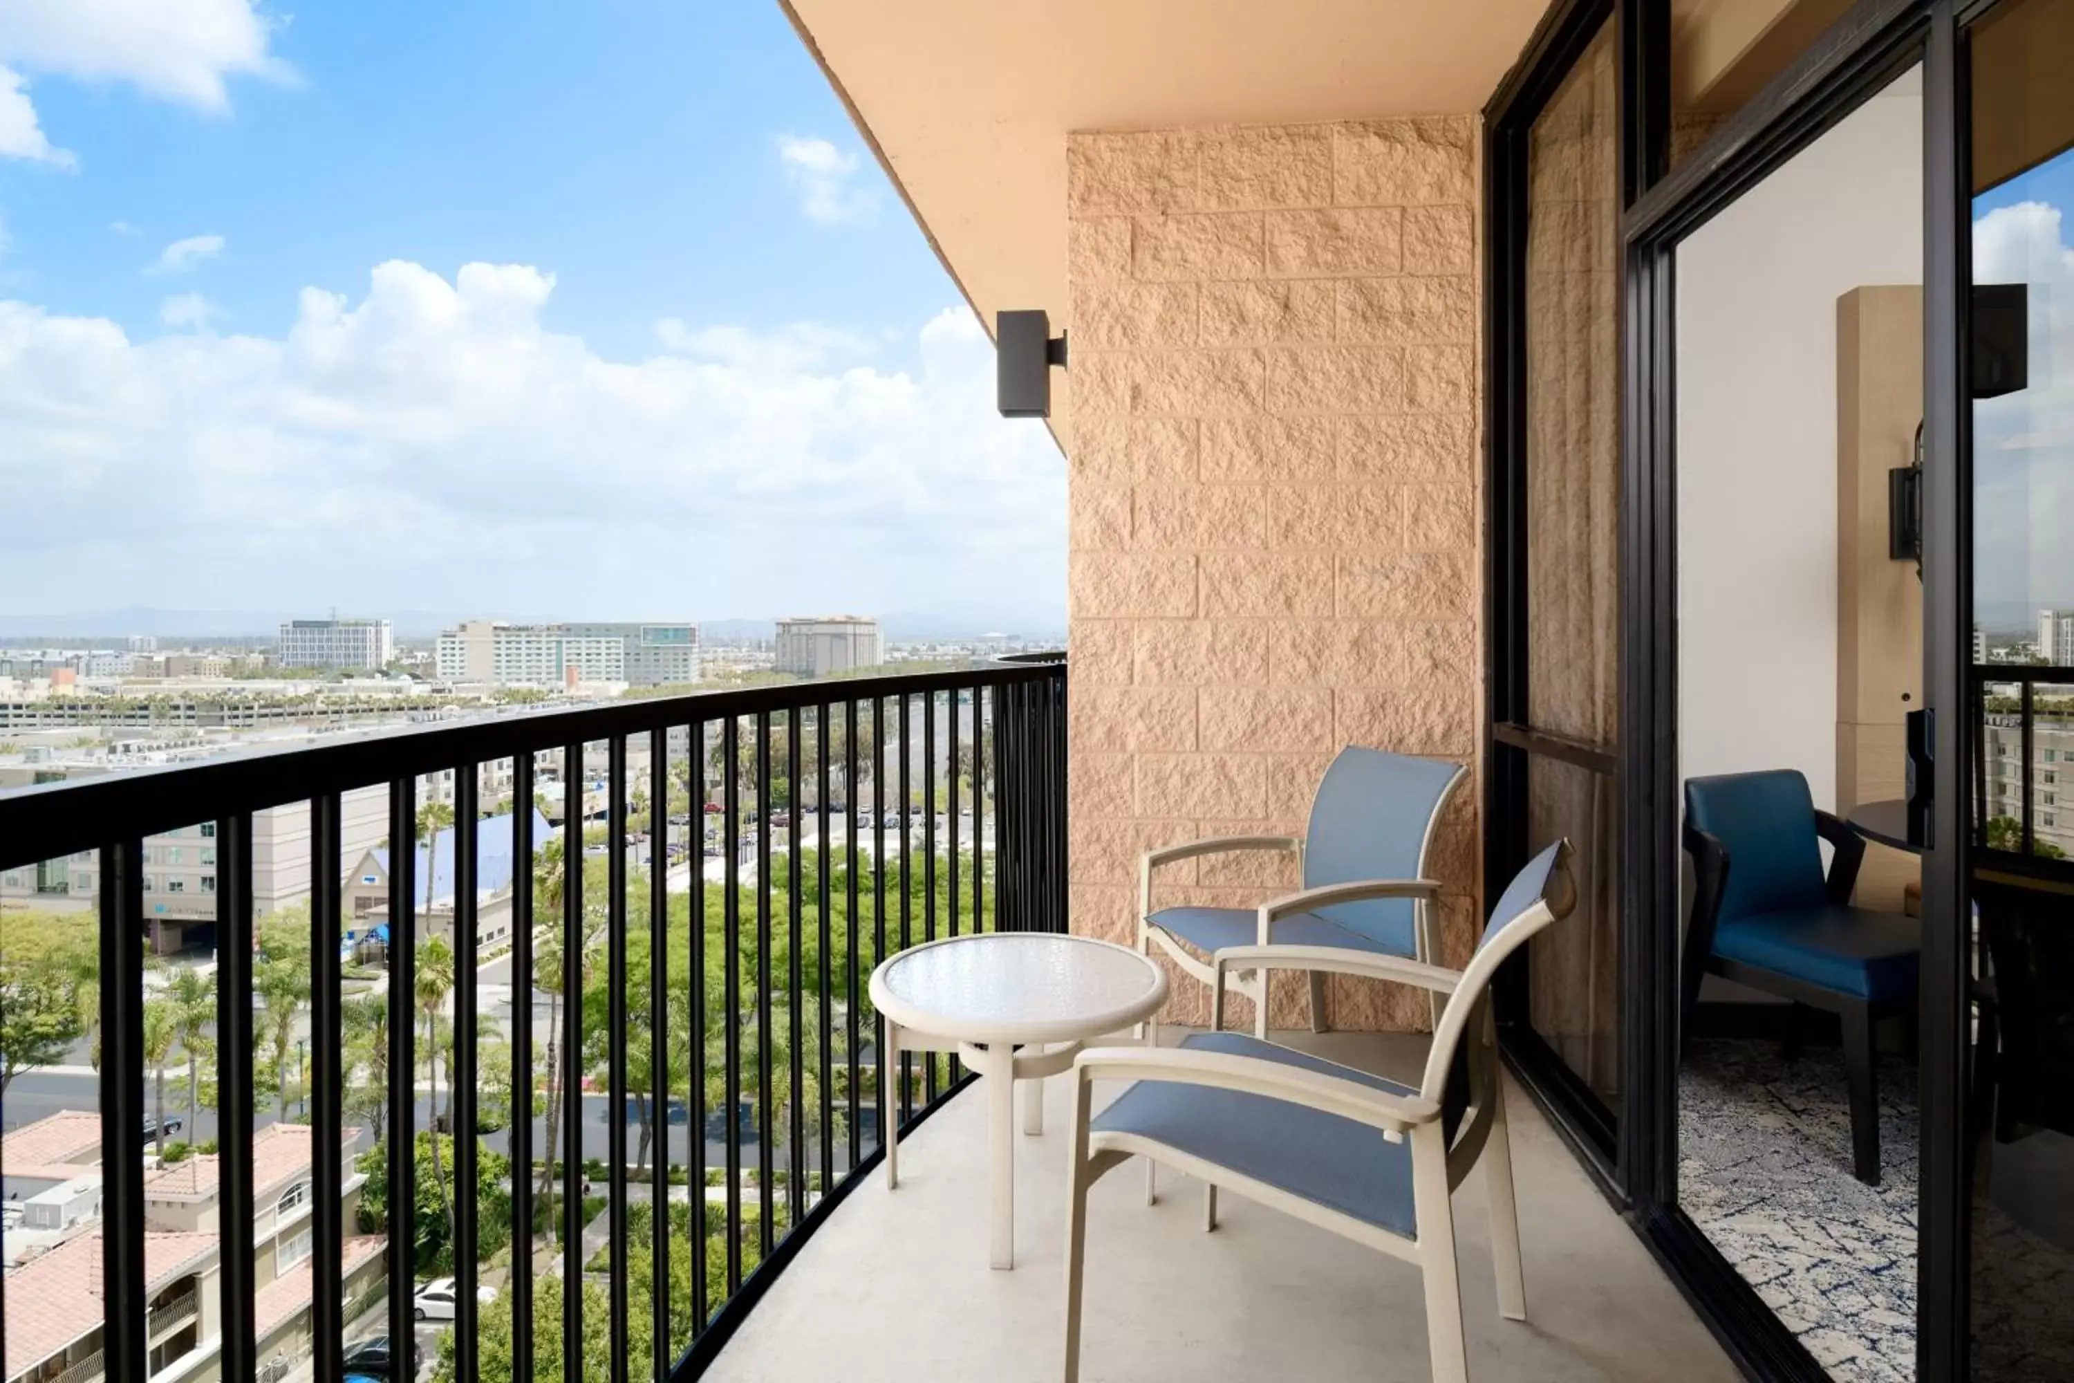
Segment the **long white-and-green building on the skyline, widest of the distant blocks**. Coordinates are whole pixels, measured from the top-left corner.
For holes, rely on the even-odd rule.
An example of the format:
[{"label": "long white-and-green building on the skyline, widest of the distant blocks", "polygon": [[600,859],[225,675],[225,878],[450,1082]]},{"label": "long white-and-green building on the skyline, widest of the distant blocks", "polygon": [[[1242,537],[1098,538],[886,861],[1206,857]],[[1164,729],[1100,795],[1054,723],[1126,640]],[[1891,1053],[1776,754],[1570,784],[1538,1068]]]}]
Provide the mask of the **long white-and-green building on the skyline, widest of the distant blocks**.
[{"label": "long white-and-green building on the skyline, widest of the distant blocks", "polygon": [[564,686],[570,674],[635,686],[697,682],[699,626],[463,620],[440,634],[436,659],[446,682]]}]

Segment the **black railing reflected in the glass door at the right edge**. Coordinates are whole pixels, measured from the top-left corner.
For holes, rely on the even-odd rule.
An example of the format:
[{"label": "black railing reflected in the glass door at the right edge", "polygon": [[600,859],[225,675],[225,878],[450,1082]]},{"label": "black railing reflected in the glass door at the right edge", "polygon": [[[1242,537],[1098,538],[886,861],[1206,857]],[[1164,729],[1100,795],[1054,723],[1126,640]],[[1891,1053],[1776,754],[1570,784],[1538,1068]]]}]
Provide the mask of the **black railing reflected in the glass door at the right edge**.
[{"label": "black railing reflected in the glass door at the right edge", "polygon": [[2074,771],[2074,668],[1977,664],[1972,690],[1974,848],[2070,869],[2074,817],[2059,823],[2057,794],[2059,773]]}]

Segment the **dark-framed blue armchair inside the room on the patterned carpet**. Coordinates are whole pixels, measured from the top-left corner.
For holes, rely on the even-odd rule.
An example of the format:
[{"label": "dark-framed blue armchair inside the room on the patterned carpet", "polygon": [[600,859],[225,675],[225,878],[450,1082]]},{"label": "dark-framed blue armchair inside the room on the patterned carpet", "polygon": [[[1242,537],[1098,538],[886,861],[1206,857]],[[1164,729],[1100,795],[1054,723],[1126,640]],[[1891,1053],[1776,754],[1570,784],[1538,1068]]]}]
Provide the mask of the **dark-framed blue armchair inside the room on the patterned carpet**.
[{"label": "dark-framed blue armchair inside the room on the patterned carpet", "polygon": [[[1827,877],[1819,840],[1835,848]],[[1692,919],[1684,945],[1682,1041],[1705,975],[1838,1016],[1850,1084],[1852,1167],[1879,1184],[1873,1024],[1916,1004],[1923,925],[1850,906],[1865,840],[1815,809],[1794,769],[1686,780]]]}]

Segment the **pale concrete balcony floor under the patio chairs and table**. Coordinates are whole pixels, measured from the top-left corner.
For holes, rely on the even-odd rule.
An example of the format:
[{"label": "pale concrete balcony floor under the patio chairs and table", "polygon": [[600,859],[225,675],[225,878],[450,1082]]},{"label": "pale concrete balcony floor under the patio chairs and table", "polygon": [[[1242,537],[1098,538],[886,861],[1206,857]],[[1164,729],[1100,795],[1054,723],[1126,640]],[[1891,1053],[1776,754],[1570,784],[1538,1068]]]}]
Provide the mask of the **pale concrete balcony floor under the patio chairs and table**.
[{"label": "pale concrete balcony floor under the patio chairs and table", "polygon": [[[1178,1035],[1168,1028],[1168,1041]],[[1348,1066],[1417,1076],[1423,1037],[1278,1033]],[[1120,1086],[1097,1086],[1095,1099]],[[742,1383],[1052,1383],[1064,1319],[1064,1076],[1045,1132],[1016,1132],[1016,1267],[987,1269],[985,1099],[937,1111],[850,1192],[757,1304],[709,1377]],[[1468,1366],[1479,1381],[1587,1383],[1740,1375],[1564,1149],[1510,1086],[1526,1323],[1497,1315],[1483,1178],[1454,1198]],[[1203,1234],[1201,1184],[1141,1163],[1089,1196],[1089,1383],[1307,1383],[1431,1377],[1419,1271],[1240,1196]]]}]

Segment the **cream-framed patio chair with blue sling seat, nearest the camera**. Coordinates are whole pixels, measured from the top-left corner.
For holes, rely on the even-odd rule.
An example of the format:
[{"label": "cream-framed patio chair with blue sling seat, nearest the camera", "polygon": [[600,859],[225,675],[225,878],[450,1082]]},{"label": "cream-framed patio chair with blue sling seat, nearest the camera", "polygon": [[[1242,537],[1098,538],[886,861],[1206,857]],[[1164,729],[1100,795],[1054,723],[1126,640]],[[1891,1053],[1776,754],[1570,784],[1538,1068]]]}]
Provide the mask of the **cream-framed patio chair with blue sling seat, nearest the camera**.
[{"label": "cream-framed patio chair with blue sling seat, nearest the camera", "polygon": [[[1130,1157],[1224,1186],[1302,1221],[1408,1259],[1425,1275],[1435,1383],[1466,1383],[1452,1190],[1483,1161],[1491,1196],[1497,1308],[1526,1319],[1504,1086],[1489,987],[1537,931],[1568,916],[1570,844],[1555,842],[1512,879],[1460,972],[1396,956],[1300,945],[1217,952],[1213,993],[1232,966],[1365,975],[1448,995],[1419,1089],[1242,1033],[1199,1033],[1180,1047],[1095,1047],[1074,1060],[1066,1194],[1066,1383],[1081,1375],[1087,1190]],[[1562,877],[1555,896],[1549,890]],[[1220,1004],[1222,1008],[1222,1004]],[[1095,1080],[1132,1080],[1089,1118]],[[1209,1201],[1205,1227],[1215,1227]]]}]

